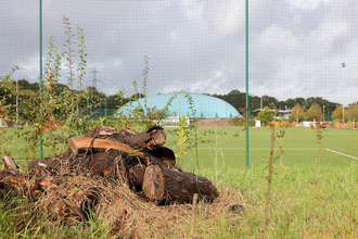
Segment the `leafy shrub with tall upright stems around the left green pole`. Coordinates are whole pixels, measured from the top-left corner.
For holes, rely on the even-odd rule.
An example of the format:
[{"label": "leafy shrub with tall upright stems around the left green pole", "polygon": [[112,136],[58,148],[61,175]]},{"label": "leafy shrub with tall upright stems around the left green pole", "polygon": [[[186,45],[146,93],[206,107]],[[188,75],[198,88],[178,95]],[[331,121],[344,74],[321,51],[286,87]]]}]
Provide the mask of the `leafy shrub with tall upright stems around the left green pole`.
[{"label": "leafy shrub with tall upright stems around the left green pole", "polygon": [[[29,159],[34,159],[40,140],[43,146],[50,147],[52,153],[61,153],[66,148],[67,139],[84,135],[91,127],[91,111],[98,105],[99,99],[89,89],[84,88],[87,54],[85,53],[84,30],[77,26],[79,63],[75,66],[75,47],[69,18],[63,17],[66,40],[65,52],[59,52],[54,40],[50,37],[48,60],[44,74],[41,76],[40,93],[22,91],[22,121],[29,127],[18,131],[18,136],[26,139],[26,149]],[[61,91],[56,91],[61,76],[61,65],[67,71],[67,83]],[[78,74],[77,80],[75,78]]]}]

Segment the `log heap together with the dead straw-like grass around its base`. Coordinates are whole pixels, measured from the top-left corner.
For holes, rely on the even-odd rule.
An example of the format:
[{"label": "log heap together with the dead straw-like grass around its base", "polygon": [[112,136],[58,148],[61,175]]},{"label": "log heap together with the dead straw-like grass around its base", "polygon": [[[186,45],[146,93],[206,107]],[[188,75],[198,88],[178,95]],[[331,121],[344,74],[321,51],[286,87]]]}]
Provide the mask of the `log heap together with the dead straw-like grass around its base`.
[{"label": "log heap together with the dead straw-like grass around its base", "polygon": [[[4,156],[0,188],[26,199],[33,222],[18,216],[18,223],[29,225],[43,217],[76,228],[97,218],[112,236],[125,238],[186,237],[192,215],[213,221],[222,213],[230,217],[234,212],[236,217],[244,211],[225,192],[219,196],[207,178],[177,167],[165,141],[161,127],[138,134],[101,126],[68,139],[63,155],[33,161],[27,174],[20,174],[13,159]],[[195,193],[200,202],[193,213]],[[195,225],[201,237],[210,235],[204,227]]]}]

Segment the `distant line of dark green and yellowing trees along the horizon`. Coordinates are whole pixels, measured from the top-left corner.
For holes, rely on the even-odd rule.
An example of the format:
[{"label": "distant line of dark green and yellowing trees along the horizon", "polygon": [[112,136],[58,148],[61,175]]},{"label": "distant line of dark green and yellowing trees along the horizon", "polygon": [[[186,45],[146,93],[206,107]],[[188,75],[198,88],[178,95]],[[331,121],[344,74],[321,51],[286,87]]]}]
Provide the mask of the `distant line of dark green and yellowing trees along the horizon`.
[{"label": "distant line of dark green and yellowing trees along the horizon", "polygon": [[[13,81],[15,84],[15,81]],[[55,93],[61,93],[65,89],[65,85],[63,84],[56,84],[53,89]],[[25,90],[25,91],[34,91],[39,92],[39,84],[38,83],[29,83],[26,79],[20,79],[18,80],[18,89]],[[103,92],[98,91],[94,87],[90,87],[93,95],[95,95],[102,104],[102,108],[107,109],[116,109],[119,108],[126,103],[128,103],[133,98],[142,98],[144,97],[142,93],[136,93],[130,97],[124,97],[123,95],[112,95],[106,96]],[[5,92],[0,90],[0,97],[4,96]],[[221,99],[228,103],[230,103],[233,108],[235,108],[238,111],[241,108],[244,108],[246,104],[246,93],[241,92],[238,89],[231,90],[227,95],[209,95],[209,93],[203,93],[206,96],[215,97],[218,99]],[[15,99],[14,99],[15,102]],[[342,105],[336,102],[331,102],[329,100],[325,100],[321,97],[309,97],[307,99],[305,98],[289,98],[284,101],[279,101],[274,97],[270,96],[263,96],[263,99],[257,96],[248,96],[248,102],[250,102],[250,110],[253,112],[255,110],[260,109],[260,103],[263,102],[263,108],[268,106],[271,110],[285,110],[285,109],[292,109],[292,116],[291,120],[307,120],[310,121],[310,118],[314,117],[315,113],[321,112],[332,115],[332,117],[343,117],[343,110]],[[353,103],[351,105],[357,105],[358,102]],[[351,106],[349,105],[349,106]],[[351,116],[354,118],[356,114],[355,108],[347,108],[346,110],[346,117]],[[263,110],[263,109],[261,109]],[[337,110],[335,112],[335,110]],[[351,113],[350,113],[351,111]],[[312,113],[315,112],[315,113]]]}]

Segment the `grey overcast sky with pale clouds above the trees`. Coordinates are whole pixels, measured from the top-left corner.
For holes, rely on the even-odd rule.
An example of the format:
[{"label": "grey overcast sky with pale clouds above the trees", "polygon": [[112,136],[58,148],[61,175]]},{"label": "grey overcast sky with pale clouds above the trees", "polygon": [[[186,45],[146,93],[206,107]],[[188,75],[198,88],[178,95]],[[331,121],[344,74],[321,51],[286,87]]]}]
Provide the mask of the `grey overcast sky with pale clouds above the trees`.
[{"label": "grey overcast sky with pale clouds above the trees", "polygon": [[[0,75],[21,65],[18,78],[38,81],[38,2],[0,0]],[[143,56],[150,96],[245,91],[245,0],[42,0],[42,12],[43,65],[50,36],[64,50],[66,15],[85,29],[85,84],[95,67],[106,95],[142,87]],[[250,0],[248,12],[252,96],[358,101],[357,0]]]}]

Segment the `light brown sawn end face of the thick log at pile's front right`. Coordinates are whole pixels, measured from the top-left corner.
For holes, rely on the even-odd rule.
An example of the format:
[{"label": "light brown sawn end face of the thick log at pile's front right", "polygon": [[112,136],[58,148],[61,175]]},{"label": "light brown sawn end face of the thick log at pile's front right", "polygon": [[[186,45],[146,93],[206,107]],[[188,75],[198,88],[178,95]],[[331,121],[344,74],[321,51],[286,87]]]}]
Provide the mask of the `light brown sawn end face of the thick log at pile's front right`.
[{"label": "light brown sawn end face of the thick log at pile's front right", "polygon": [[145,168],[143,192],[151,201],[162,201],[165,192],[165,177],[161,166],[152,164]]}]

